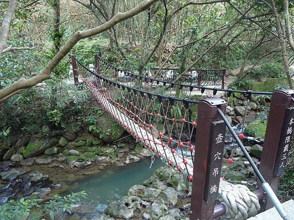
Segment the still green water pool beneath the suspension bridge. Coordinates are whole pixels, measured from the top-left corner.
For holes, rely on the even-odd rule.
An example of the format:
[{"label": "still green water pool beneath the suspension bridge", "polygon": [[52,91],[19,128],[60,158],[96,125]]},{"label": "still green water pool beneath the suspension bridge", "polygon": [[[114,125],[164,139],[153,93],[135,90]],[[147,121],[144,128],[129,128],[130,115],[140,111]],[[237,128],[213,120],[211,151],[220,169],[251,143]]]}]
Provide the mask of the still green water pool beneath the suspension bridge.
[{"label": "still green water pool beneath the suspension bridge", "polygon": [[86,191],[88,195],[84,202],[94,205],[97,214],[102,214],[111,200],[126,196],[130,187],[142,184],[157,168],[164,165],[159,158],[156,158],[149,169],[150,162],[151,159],[142,159],[124,167],[106,168],[95,176],[77,181],[79,187],[66,194]]}]

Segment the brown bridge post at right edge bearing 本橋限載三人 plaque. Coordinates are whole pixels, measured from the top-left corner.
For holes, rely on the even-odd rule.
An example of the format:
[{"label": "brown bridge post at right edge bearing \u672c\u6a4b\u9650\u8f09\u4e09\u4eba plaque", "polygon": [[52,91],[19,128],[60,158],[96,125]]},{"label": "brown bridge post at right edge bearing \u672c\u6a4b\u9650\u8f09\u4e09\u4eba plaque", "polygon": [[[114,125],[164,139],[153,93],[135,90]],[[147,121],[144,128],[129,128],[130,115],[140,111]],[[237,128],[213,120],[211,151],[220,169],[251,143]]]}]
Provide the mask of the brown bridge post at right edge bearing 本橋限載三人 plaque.
[{"label": "brown bridge post at right edge bearing \u672c\u6a4b\u9650\u8f09\u4e09\u4eba plaque", "polygon": [[[293,135],[294,108],[292,96],[294,90],[284,89],[272,93],[270,113],[265,135],[265,143],[261,154],[259,171],[277,194],[280,176],[284,173],[290,143]],[[288,130],[289,129],[289,130]],[[289,145],[287,146],[287,144]],[[257,185],[261,187],[258,181]],[[273,207],[270,199],[266,196],[261,202],[260,212]]]}]

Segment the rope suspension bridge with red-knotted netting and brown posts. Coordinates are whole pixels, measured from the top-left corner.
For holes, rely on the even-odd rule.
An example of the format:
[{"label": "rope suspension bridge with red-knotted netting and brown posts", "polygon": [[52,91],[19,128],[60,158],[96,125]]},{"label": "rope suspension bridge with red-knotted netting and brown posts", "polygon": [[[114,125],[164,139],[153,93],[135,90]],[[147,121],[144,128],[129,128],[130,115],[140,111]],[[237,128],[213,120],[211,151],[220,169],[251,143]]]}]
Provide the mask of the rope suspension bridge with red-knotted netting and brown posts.
[{"label": "rope suspension bridge with red-knotted netting and brown posts", "polygon": [[[149,69],[139,74],[113,66],[98,54],[94,69],[74,55],[72,65],[75,85],[89,88],[104,110],[142,146],[192,182],[191,220],[221,216],[247,219],[273,206],[283,219],[290,220],[276,193],[292,139],[294,90],[271,93],[227,89],[224,88],[225,69],[192,69],[175,83],[177,69]],[[226,93],[227,97],[242,93],[247,103],[252,94],[272,96],[259,168],[247,153],[242,135],[238,137],[227,121],[225,100],[196,100],[195,91],[203,94],[205,90],[214,96],[218,92]],[[253,192],[221,178],[226,129],[257,176]],[[217,198],[221,203],[216,205]]]}]

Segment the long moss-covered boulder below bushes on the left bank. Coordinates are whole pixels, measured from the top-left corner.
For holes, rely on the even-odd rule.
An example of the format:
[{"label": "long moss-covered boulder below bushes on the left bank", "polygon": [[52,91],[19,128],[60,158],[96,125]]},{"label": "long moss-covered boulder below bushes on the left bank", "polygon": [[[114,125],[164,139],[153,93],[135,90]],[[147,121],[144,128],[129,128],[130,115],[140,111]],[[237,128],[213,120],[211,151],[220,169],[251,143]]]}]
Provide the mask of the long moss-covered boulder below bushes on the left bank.
[{"label": "long moss-covered boulder below bushes on the left bank", "polygon": [[23,152],[25,158],[37,156],[42,154],[47,149],[53,147],[58,143],[58,139],[56,137],[50,139],[49,141],[30,141]]}]

